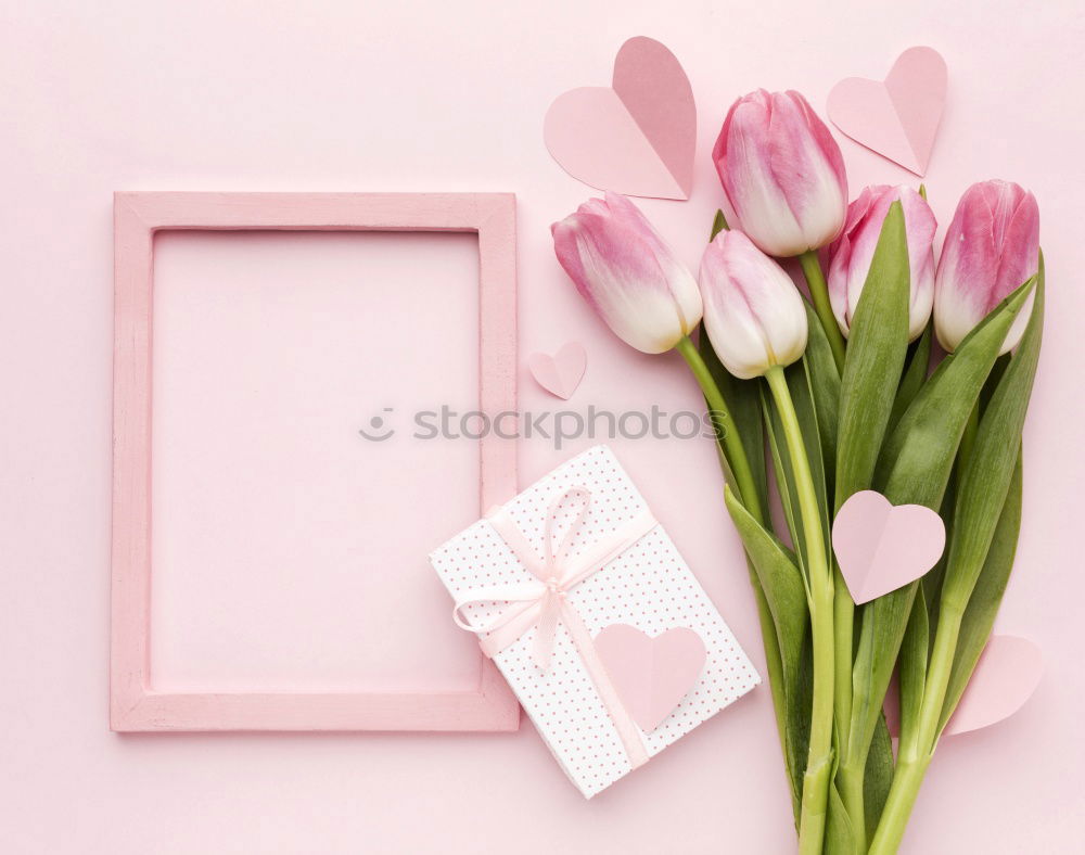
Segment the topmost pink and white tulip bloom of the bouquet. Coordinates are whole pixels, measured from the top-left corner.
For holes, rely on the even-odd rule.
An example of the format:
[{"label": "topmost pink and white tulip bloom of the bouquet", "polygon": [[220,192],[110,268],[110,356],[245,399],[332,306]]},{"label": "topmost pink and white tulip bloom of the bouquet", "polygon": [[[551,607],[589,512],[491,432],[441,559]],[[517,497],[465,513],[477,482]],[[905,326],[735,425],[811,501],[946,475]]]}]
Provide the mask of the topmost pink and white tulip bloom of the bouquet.
[{"label": "topmost pink and white tulip bloom of the bouquet", "polygon": [[727,113],[712,159],[741,229],[769,255],[832,241],[844,225],[840,146],[799,92],[756,92]]}]

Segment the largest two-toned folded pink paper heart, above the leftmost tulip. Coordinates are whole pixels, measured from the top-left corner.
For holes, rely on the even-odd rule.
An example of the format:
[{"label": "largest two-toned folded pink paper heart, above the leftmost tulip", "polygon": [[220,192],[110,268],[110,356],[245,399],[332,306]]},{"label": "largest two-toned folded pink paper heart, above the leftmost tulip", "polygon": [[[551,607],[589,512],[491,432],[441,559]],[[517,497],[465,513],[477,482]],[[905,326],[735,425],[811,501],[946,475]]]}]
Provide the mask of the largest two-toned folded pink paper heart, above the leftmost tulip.
[{"label": "largest two-toned folded pink paper heart, above the leftmost tulip", "polygon": [[571,89],[542,123],[553,158],[573,178],[631,196],[689,199],[697,106],[677,58],[637,36],[614,59],[610,87]]}]

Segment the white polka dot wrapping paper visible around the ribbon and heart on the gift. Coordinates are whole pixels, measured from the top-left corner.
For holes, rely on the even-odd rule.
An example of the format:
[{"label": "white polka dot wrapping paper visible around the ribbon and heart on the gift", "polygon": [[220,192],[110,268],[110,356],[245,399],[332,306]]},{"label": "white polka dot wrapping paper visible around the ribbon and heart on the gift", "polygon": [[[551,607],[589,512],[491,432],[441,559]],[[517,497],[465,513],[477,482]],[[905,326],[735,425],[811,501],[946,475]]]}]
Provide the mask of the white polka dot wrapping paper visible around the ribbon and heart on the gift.
[{"label": "white polka dot wrapping paper visible around the ribbon and heart on the gift", "polygon": [[[570,535],[572,557],[600,539],[613,537],[648,510],[611,449],[602,445],[589,448],[505,506],[540,557],[551,503],[571,488],[590,492],[583,520],[569,514],[569,519],[556,516],[552,522],[553,538]],[[470,599],[473,590],[535,579],[485,519],[434,550],[430,561],[457,600]],[[761,682],[724,618],[659,524],[569,590],[566,601],[592,637],[604,627],[627,624],[653,638],[674,627],[685,627],[704,642],[705,664],[692,688],[653,730],[637,728],[649,757]],[[510,605],[476,602],[464,607],[461,617],[473,628],[484,627]],[[546,671],[532,655],[535,633],[534,627],[528,628],[494,661],[565,774],[590,799],[630,771],[631,764],[565,626],[558,625],[552,660]]]}]

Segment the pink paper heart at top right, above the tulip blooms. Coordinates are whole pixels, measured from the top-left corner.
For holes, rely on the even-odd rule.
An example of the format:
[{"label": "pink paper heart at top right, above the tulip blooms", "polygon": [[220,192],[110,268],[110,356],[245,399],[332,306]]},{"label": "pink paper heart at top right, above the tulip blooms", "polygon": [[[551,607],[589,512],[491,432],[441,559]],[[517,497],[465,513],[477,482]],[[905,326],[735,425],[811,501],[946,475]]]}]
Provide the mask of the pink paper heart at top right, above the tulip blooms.
[{"label": "pink paper heart at top right, above the tulip blooms", "polygon": [[829,92],[829,118],[844,133],[916,175],[931,159],[946,101],[946,62],[933,48],[908,48],[884,82],[848,77]]}]

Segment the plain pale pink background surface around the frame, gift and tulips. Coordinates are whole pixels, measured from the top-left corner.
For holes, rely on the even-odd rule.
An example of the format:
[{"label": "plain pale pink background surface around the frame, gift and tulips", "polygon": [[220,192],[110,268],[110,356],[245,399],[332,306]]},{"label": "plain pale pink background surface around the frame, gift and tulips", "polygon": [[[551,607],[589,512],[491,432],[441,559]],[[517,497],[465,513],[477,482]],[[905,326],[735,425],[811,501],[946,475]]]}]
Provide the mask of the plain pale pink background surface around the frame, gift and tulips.
[{"label": "plain pale pink background surface around the frame, gift and tulips", "polygon": [[[790,850],[790,809],[764,688],[590,803],[564,780],[528,724],[506,736],[118,737],[107,730],[112,191],[514,191],[522,407],[556,403],[528,378],[526,355],[576,337],[587,346],[588,370],[571,406],[694,408],[697,392],[678,360],[640,356],[612,340],[564,280],[549,244],[549,224],[591,191],[547,154],[546,107],[565,89],[605,85],[614,53],[634,35],[671,47],[698,99],[692,197],[643,203],[691,265],[719,201],[707,153],[731,100],[756,86],[797,88],[824,112],[838,79],[880,77],[916,43],[937,48],[949,65],[946,113],[927,176],[943,227],[973,180],[1013,179],[1036,193],[1050,311],[1026,427],[1021,546],[996,628],[1036,640],[1047,671],[1012,719],[943,745],[905,851],[1077,847],[1085,830],[1078,725],[1085,583],[1075,549],[1083,467],[1073,360],[1085,310],[1078,281],[1085,266],[1085,118],[1075,109],[1083,13],[1068,0],[1027,9],[975,2],[954,13],[933,0],[886,9],[833,5],[832,14],[816,14],[808,4],[780,0],[753,7],[580,0],[523,9],[469,0],[304,8],[230,0],[170,7],[0,2],[5,848],[122,855]],[[873,181],[911,180],[848,140],[841,145],[853,191]],[[194,252],[196,240],[179,240],[168,253],[178,284],[201,276],[208,260]],[[279,242],[268,251],[280,254],[283,269],[263,273],[254,266],[267,259],[254,250],[213,248],[231,265],[216,272],[247,288],[257,280],[284,283],[292,272],[301,281],[319,265],[329,294],[357,299],[337,280],[335,259],[350,264],[350,246],[310,253]],[[459,257],[451,245],[442,252]],[[392,268],[391,257],[382,269]],[[183,315],[193,306],[175,308]],[[206,329],[229,322],[235,330],[244,320],[224,316]],[[434,329],[442,339],[448,334]],[[177,330],[193,333],[183,323]],[[339,329],[321,346],[334,353],[346,333]],[[401,333],[405,346],[420,341],[412,329]],[[458,340],[449,335],[448,342],[447,353],[458,353]],[[452,365],[459,358],[446,360],[446,349],[434,356]],[[193,390],[179,382],[175,392],[175,405],[183,405]],[[346,407],[347,396],[333,398],[335,408]],[[383,406],[372,401],[357,418]],[[546,442],[525,443],[522,484],[589,442],[561,451]],[[738,541],[719,505],[711,445],[641,439],[614,447],[761,665],[756,618]],[[445,457],[441,464],[457,465]],[[303,485],[316,475],[296,461],[290,472]],[[265,486],[272,483],[264,477]],[[209,498],[227,499],[220,493]],[[282,497],[266,501],[273,509]],[[472,518],[454,480],[434,478],[426,502],[455,505],[460,518],[448,520],[448,534]],[[258,579],[259,570],[245,572]],[[331,600],[348,584],[332,579],[323,592],[306,596]],[[200,580],[183,585],[190,587],[170,608],[196,609]],[[235,590],[220,602],[233,609],[243,596]],[[259,604],[248,603],[254,611]],[[319,625],[318,605],[305,603],[309,611],[293,638],[304,643],[306,627]],[[414,603],[409,615],[439,615],[443,607],[431,612]],[[322,646],[316,650],[339,650],[340,661],[323,673],[303,668],[304,651],[285,645],[285,659],[252,648],[234,655],[248,658],[242,664],[254,680],[277,685],[387,679],[379,658],[350,661],[336,647],[337,633],[339,640],[350,637],[349,611],[335,603],[332,614],[328,630],[312,641]],[[242,620],[252,629],[272,616]],[[186,618],[178,612],[173,620]],[[159,652],[177,654],[174,679],[217,678],[213,658],[191,649],[180,623],[173,642],[173,653]],[[273,673],[257,673],[271,662]],[[458,665],[450,661],[449,667]]]}]

